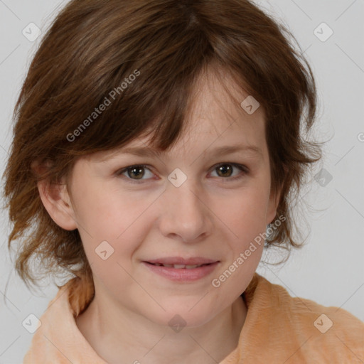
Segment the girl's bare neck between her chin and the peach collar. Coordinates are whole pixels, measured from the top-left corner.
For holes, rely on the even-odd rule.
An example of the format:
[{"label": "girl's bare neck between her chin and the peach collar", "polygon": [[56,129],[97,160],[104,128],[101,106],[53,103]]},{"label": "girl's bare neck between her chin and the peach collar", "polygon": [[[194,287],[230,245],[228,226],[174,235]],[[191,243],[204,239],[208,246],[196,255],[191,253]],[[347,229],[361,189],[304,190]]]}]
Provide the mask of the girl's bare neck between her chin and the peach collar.
[{"label": "girl's bare neck between her chin and the peach collar", "polygon": [[95,294],[76,323],[97,355],[109,364],[216,364],[237,347],[246,315],[247,306],[239,296],[204,325],[175,332]]}]

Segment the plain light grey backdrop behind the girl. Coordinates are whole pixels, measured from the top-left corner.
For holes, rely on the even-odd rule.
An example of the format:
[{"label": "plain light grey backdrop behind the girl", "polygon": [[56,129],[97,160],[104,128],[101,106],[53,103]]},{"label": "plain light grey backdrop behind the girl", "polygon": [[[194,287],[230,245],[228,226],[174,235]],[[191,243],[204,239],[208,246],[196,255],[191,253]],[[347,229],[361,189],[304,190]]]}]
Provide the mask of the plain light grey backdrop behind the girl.
[{"label": "plain light grey backdrop behind the girl", "polygon": [[[0,164],[1,173],[11,143],[11,114],[31,56],[41,37],[28,41],[22,31],[33,22],[45,30],[60,0],[0,0]],[[363,0],[257,1],[289,27],[312,65],[319,88],[316,137],[328,140],[321,166],[303,190],[306,206],[297,210],[306,246],[293,251],[279,267],[261,264],[258,272],[286,287],[291,296],[338,306],[364,320],[364,52]],[[314,30],[325,22],[333,35],[321,41]],[[322,30],[321,30],[322,29]],[[328,29],[318,28],[321,38]],[[317,32],[317,31],[316,31]],[[326,186],[316,181],[325,169]],[[322,172],[321,172],[322,173]],[[302,216],[306,216],[306,223]],[[21,363],[32,334],[22,326],[29,314],[41,317],[57,289],[44,282],[31,294],[16,276],[7,250],[10,232],[6,211],[1,215],[0,364]],[[264,255],[274,261],[272,252]],[[9,286],[4,296],[6,283]]]}]

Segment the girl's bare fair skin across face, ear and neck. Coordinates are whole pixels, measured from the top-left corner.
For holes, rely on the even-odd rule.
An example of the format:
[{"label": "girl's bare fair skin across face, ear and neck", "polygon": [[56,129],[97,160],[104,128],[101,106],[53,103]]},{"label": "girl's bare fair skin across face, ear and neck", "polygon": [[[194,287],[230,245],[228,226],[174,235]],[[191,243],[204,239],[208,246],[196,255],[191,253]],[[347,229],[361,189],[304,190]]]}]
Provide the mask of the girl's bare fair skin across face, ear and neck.
[{"label": "girl's bare fair skin across face, ear and neck", "polygon": [[[226,80],[237,92],[233,80]],[[80,231],[95,298],[76,323],[107,363],[215,364],[236,348],[245,322],[247,306],[240,294],[257,269],[262,245],[220,287],[211,281],[265,232],[277,212],[264,112],[260,107],[245,113],[213,75],[201,77],[199,85],[191,126],[165,155],[92,154],[76,162],[69,190],[38,184],[55,223]],[[127,146],[147,144],[148,139],[139,138]],[[236,144],[257,146],[261,154],[213,154],[219,146]],[[246,166],[248,173],[234,163]],[[137,164],[149,168],[142,180],[132,172],[116,173]],[[219,164],[233,168],[231,176],[219,174]],[[180,187],[167,179],[175,168],[187,176]],[[141,183],[132,183],[133,177]],[[107,260],[95,253],[104,240],[114,248]],[[220,262],[196,282],[172,282],[141,263],[171,256]],[[168,326],[176,314],[186,321],[179,332]]]}]

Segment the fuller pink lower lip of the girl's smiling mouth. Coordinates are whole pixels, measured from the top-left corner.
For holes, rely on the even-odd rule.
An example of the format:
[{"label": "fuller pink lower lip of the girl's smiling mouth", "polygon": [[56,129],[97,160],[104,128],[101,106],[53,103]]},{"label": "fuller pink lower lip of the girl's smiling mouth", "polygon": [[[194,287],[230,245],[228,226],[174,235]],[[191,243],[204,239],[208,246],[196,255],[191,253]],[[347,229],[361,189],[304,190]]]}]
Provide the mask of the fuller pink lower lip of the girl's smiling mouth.
[{"label": "fuller pink lower lip of the girl's smiling mouth", "polygon": [[159,274],[162,277],[166,277],[171,279],[172,281],[177,282],[193,282],[198,279],[207,277],[209,274],[213,272],[213,270],[217,267],[218,262],[203,265],[202,267],[197,267],[193,269],[186,268],[168,268],[163,265],[154,265],[147,262],[142,262],[151,272]]}]

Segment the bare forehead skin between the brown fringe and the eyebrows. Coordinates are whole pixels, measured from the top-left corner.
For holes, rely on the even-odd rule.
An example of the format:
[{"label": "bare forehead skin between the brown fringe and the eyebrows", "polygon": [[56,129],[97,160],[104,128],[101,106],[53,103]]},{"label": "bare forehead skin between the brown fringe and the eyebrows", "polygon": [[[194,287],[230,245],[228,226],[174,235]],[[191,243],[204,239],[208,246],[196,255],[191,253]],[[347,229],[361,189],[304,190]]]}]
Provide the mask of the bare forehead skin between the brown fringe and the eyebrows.
[{"label": "bare forehead skin between the brown fringe and the eyebrows", "polygon": [[218,77],[215,73],[202,74],[193,88],[186,113],[186,128],[171,149],[155,149],[149,141],[149,130],[121,148],[102,152],[98,156],[104,159],[120,152],[132,152],[139,156],[200,154],[219,148],[222,152],[228,151],[232,145],[264,155],[267,153],[264,111],[262,107],[257,107],[255,112],[248,113],[241,103],[249,96],[229,73],[222,72]]}]

